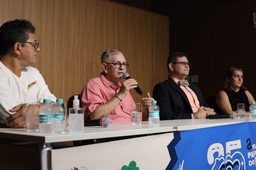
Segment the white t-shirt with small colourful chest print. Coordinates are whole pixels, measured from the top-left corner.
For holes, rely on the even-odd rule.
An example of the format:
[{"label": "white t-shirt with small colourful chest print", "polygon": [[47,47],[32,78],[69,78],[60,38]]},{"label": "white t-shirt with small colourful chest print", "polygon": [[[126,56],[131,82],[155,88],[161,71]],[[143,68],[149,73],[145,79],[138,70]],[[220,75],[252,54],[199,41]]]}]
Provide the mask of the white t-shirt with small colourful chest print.
[{"label": "white t-shirt with small colourful chest print", "polygon": [[13,113],[13,107],[23,103],[39,103],[44,99],[56,102],[44,78],[36,68],[25,67],[20,78],[0,62],[0,123]]}]

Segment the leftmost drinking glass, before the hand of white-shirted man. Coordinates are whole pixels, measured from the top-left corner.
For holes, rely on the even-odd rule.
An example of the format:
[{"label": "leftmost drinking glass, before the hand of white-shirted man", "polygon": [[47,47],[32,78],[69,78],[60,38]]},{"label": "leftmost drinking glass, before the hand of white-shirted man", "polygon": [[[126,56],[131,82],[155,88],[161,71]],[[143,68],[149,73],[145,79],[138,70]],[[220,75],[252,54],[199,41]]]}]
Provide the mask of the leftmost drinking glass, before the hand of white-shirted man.
[{"label": "leftmost drinking glass, before the hand of white-shirted man", "polygon": [[26,105],[26,125],[28,132],[39,131],[39,103],[27,103]]}]

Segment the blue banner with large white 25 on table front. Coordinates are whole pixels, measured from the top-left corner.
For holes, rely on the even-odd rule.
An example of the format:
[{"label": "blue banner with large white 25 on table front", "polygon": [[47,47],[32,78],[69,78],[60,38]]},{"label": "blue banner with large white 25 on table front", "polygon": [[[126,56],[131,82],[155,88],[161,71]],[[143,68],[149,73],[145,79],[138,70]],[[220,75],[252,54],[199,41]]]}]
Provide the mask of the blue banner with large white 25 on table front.
[{"label": "blue banner with large white 25 on table front", "polygon": [[174,132],[166,169],[256,169],[256,122]]}]

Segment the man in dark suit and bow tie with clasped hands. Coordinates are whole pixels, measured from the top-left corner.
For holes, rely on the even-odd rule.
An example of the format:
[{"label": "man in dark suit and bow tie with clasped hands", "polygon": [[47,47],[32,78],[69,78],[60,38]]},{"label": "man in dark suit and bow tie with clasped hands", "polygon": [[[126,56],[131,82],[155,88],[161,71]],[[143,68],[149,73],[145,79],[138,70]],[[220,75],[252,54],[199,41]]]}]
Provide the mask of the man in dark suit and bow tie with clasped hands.
[{"label": "man in dark suit and bow tie with clasped hands", "polygon": [[174,53],[167,59],[168,80],[158,83],[153,90],[153,98],[160,107],[160,120],[205,119],[215,115],[206,104],[200,89],[188,84],[191,63],[184,53]]}]

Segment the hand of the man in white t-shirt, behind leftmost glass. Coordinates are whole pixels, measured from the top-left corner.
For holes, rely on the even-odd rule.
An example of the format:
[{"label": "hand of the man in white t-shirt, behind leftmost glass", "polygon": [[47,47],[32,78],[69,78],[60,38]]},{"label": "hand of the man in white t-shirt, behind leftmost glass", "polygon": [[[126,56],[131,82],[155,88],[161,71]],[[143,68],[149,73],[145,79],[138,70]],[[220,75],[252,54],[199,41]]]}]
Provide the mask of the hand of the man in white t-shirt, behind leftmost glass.
[{"label": "hand of the man in white t-shirt, behind leftmost glass", "polygon": [[11,128],[26,128],[26,103],[13,107],[10,112],[16,112],[6,118],[7,125]]}]

